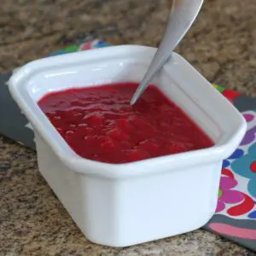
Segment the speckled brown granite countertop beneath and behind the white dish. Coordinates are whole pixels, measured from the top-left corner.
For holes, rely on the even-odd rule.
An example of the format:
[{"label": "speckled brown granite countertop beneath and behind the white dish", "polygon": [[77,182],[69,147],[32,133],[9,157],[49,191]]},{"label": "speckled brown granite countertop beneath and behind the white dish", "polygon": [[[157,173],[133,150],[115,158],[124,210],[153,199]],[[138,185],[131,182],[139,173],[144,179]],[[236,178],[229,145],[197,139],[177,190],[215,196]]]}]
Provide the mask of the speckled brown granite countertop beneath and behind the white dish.
[{"label": "speckled brown granite countertop beneath and behind the white dish", "polygon": [[[99,37],[158,45],[171,0],[3,0],[0,72]],[[256,96],[256,3],[206,0],[177,51],[212,82]],[[0,136],[0,255],[256,255],[196,230],[125,248],[87,241],[38,173],[36,154]]]}]

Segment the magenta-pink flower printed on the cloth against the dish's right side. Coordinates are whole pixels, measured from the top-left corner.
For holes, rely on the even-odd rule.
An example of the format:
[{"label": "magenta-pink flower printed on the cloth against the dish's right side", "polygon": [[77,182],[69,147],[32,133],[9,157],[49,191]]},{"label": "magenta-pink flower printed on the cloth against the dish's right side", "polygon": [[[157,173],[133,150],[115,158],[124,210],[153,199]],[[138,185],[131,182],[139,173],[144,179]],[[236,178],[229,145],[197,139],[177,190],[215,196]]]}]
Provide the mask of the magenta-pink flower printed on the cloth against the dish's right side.
[{"label": "magenta-pink flower printed on the cloth against the dish's right side", "polygon": [[221,177],[216,212],[223,211],[225,204],[236,204],[243,201],[243,194],[240,191],[232,190],[236,185],[236,179],[232,177]]}]

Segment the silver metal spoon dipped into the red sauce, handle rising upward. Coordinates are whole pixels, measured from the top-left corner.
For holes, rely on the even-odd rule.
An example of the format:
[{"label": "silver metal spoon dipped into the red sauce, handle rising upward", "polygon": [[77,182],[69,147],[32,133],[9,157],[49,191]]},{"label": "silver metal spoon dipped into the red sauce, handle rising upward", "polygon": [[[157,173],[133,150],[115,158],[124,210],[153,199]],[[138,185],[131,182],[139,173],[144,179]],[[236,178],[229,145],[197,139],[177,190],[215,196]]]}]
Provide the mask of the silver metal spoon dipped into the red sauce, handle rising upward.
[{"label": "silver metal spoon dipped into the red sauce, handle rising upward", "polygon": [[161,41],[159,49],[156,51],[153,61],[148,67],[147,73],[137,87],[136,92],[131,98],[131,105],[137,102],[137,99],[146,90],[151,79],[163,67],[172,51],[182,40],[184,35],[192,26],[196,16],[198,15],[203,0],[172,0],[172,11],[169,16],[166,33]]}]

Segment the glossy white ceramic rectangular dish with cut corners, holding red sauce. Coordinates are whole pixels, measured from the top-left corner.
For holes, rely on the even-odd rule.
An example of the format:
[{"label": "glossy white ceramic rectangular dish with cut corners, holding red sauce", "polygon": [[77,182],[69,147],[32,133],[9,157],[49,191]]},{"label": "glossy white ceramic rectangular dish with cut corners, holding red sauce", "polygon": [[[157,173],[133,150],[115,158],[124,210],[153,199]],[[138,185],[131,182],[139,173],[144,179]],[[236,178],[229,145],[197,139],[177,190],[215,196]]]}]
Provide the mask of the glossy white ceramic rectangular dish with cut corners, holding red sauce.
[{"label": "glossy white ceramic rectangular dish with cut corners, holding red sauce", "polygon": [[45,94],[72,87],[139,82],[156,49],[126,45],[32,61],[9,80],[35,131],[42,173],[84,235],[113,247],[175,236],[206,224],[218,200],[222,161],[241,142],[246,122],[180,55],[154,79],[212,138],[211,148],[127,164],[75,154],[38,107]]}]

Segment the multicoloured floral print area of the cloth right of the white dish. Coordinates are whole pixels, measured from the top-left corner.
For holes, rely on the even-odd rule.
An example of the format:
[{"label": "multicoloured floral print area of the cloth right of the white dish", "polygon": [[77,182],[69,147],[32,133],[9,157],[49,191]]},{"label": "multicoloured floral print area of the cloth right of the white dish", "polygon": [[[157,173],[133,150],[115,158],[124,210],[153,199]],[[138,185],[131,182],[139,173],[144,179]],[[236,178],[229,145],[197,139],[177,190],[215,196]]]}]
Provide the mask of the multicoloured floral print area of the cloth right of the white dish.
[{"label": "multicoloured floral print area of the cloth right of the white dish", "polygon": [[216,212],[256,219],[256,111],[243,113],[247,133],[239,148],[224,160]]}]

